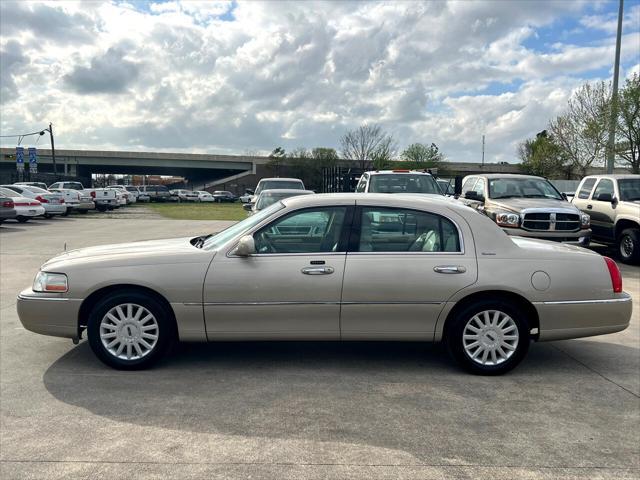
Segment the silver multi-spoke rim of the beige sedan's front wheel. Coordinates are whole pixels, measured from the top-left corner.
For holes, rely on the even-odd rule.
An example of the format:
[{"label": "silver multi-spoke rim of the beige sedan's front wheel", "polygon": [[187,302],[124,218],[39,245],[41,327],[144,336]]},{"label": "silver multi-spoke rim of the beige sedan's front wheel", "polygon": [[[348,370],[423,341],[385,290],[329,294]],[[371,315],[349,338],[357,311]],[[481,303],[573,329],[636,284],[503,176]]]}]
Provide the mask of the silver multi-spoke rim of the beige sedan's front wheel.
[{"label": "silver multi-spoke rim of the beige sedan's front wheel", "polygon": [[121,360],[138,360],[158,343],[158,322],[146,308],[123,303],[109,310],[100,322],[104,348]]}]

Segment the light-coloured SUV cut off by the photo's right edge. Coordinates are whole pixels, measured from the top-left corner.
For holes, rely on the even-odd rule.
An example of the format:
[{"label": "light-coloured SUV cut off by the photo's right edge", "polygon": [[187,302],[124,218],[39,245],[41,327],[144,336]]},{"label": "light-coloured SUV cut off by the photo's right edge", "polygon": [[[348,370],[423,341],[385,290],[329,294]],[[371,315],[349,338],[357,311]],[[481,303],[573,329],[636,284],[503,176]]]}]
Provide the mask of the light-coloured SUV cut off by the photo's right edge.
[{"label": "light-coloured SUV cut off by the photo's right edge", "polygon": [[572,203],[591,216],[596,242],[615,246],[623,262],[640,264],[640,175],[584,177]]}]

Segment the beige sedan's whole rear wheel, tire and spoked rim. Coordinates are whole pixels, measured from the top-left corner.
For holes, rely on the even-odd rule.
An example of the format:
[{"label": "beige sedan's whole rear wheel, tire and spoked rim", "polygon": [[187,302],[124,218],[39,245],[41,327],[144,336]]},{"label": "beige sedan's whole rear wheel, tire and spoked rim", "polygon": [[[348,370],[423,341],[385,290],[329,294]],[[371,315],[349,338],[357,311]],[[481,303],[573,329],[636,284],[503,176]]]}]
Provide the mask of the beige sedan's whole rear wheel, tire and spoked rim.
[{"label": "beige sedan's whole rear wheel, tire and spoked rim", "polygon": [[529,350],[529,324],[511,303],[483,300],[455,315],[446,342],[471,373],[500,375],[518,365]]}]

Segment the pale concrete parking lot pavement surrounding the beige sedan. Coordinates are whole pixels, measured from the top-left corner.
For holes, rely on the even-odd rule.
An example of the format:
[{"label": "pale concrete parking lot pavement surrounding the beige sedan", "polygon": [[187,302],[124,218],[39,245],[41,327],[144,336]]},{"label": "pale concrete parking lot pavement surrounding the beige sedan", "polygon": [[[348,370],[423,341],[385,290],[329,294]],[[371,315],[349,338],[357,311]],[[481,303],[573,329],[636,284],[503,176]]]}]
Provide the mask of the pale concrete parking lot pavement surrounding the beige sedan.
[{"label": "pale concrete parking lot pavement surrounding the beige sedan", "polygon": [[24,330],[15,297],[49,257],[229,222],[0,226],[0,477],[638,478],[640,268],[630,328],[532,345],[501,377],[421,343],[182,345],[150,371]]}]

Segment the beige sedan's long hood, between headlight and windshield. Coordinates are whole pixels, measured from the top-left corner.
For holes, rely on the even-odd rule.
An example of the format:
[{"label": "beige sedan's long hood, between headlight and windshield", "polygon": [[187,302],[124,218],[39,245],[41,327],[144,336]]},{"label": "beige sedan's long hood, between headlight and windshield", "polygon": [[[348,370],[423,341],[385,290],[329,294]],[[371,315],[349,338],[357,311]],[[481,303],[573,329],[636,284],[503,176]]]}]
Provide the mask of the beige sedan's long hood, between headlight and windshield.
[{"label": "beige sedan's long hood, between headlight and windshield", "polygon": [[119,266],[189,263],[202,261],[212,252],[191,245],[193,237],[118,243],[69,250],[48,260],[42,269],[53,271],[66,266]]}]

